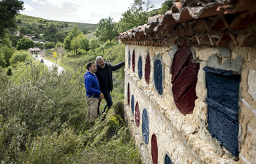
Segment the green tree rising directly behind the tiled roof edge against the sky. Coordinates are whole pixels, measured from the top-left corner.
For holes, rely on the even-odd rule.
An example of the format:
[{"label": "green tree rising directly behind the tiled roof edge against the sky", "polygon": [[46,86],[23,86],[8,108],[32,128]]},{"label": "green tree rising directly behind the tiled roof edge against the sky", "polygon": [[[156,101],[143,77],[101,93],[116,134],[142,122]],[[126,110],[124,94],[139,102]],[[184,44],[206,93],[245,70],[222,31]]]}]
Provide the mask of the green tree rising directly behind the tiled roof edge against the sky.
[{"label": "green tree rising directly behind the tiled roof edge against the sky", "polygon": [[[143,9],[145,6],[145,9]],[[135,28],[147,23],[148,10],[153,8],[151,1],[147,1],[146,4],[142,0],[135,0],[131,7],[122,14],[121,20],[118,22],[118,33],[127,31],[131,28]]]}]

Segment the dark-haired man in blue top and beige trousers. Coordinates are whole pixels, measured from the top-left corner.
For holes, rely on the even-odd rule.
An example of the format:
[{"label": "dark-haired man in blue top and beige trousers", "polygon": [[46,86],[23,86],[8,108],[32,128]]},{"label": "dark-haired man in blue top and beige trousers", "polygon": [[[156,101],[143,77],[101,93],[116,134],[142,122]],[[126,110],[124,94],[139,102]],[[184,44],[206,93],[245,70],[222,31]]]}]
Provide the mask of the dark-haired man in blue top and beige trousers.
[{"label": "dark-haired man in blue top and beige trousers", "polygon": [[97,66],[94,62],[87,64],[88,71],[84,75],[84,85],[86,86],[86,101],[88,104],[87,118],[91,121],[97,120],[97,109],[99,101],[104,98],[99,88],[99,81],[95,75]]}]

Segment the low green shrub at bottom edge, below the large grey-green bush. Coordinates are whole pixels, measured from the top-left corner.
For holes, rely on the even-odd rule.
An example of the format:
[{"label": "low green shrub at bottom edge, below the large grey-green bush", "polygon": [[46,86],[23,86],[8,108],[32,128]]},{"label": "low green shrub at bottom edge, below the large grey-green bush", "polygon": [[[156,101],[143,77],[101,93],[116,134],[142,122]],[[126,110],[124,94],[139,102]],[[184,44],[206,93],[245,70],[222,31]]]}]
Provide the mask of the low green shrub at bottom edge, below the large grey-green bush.
[{"label": "low green shrub at bottom edge, below the large grey-green bush", "polygon": [[[72,163],[83,147],[83,138],[71,129],[34,138],[27,146],[26,163]],[[20,159],[24,162],[24,158]]]}]

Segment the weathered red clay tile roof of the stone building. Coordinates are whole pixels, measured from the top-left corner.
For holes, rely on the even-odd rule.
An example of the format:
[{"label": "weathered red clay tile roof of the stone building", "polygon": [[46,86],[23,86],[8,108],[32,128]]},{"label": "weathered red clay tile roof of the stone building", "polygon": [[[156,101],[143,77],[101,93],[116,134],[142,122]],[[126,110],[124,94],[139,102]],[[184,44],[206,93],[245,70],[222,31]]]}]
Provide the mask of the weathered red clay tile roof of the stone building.
[{"label": "weathered red clay tile roof of the stone building", "polygon": [[165,15],[148,18],[148,23],[118,34],[124,44],[241,47],[256,43],[255,0],[176,0]]}]

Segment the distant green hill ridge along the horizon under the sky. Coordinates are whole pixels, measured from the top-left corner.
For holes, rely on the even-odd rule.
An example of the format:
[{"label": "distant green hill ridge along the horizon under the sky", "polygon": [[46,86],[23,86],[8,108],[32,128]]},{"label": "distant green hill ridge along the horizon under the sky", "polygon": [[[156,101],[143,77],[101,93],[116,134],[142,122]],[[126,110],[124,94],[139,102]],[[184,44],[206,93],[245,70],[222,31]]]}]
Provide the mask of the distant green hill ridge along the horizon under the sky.
[{"label": "distant green hill ridge along the horizon under the sky", "polygon": [[28,27],[31,25],[46,27],[49,23],[55,24],[55,26],[59,27],[61,31],[70,31],[75,26],[78,26],[80,31],[88,31],[88,33],[91,33],[94,32],[97,28],[97,24],[46,20],[41,17],[32,17],[28,15],[16,15],[16,20],[19,28]]}]

